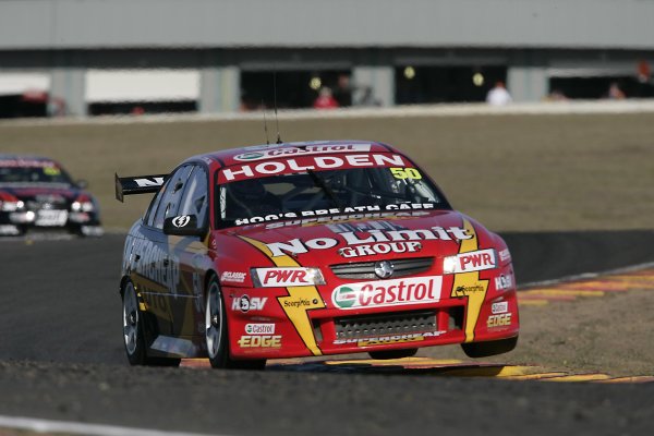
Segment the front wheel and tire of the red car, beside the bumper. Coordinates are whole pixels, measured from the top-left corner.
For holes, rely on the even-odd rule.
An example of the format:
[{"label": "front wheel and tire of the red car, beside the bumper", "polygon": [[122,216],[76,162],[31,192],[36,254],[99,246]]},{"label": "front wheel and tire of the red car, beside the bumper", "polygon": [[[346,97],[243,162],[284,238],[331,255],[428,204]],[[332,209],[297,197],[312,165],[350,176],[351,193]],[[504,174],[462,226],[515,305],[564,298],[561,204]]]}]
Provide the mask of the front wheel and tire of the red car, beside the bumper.
[{"label": "front wheel and tire of the red car, beside the bumper", "polygon": [[216,277],[207,286],[205,304],[205,338],[209,363],[214,368],[263,370],[265,359],[232,360],[229,355],[229,335],[222,292]]}]

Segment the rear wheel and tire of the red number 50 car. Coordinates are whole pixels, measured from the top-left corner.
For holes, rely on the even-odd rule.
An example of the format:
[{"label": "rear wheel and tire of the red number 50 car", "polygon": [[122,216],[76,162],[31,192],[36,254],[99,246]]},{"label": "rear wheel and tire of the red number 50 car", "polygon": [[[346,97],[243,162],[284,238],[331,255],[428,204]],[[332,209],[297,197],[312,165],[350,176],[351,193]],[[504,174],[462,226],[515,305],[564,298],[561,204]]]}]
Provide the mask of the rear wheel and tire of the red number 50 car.
[{"label": "rear wheel and tire of the red number 50 car", "polygon": [[179,366],[181,359],[150,358],[147,355],[144,330],[144,313],[138,307],[138,296],[134,283],[126,281],[122,292],[123,300],[123,343],[131,365]]}]

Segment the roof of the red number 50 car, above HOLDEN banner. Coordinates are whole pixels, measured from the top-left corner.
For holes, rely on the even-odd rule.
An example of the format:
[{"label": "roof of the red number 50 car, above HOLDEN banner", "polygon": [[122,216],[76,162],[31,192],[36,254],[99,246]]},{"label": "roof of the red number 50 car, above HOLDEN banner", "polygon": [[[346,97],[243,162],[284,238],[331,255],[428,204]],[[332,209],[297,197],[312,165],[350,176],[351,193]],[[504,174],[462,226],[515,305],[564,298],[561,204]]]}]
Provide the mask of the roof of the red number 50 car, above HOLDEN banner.
[{"label": "roof of the red number 50 car, above HOLDEN banner", "polygon": [[[376,153],[399,153],[395,147],[384,144],[384,143],[379,143],[379,142],[373,142],[373,141],[303,141],[303,142],[293,142],[293,143],[281,143],[281,144],[261,144],[261,145],[252,145],[252,146],[246,146],[246,147],[240,147],[240,148],[228,148],[228,149],[223,149],[223,150],[217,150],[217,152],[211,152],[211,153],[206,153],[206,154],[202,154],[202,155],[196,155],[193,157],[190,157],[189,159],[186,159],[185,161],[197,161],[197,160],[204,160],[206,162],[208,161],[215,161],[217,162],[220,167],[228,167],[231,165],[235,165],[235,164],[242,164],[243,160],[245,160],[243,158],[243,156],[250,155],[250,154],[264,154],[264,156],[258,157],[257,160],[265,160],[265,159],[275,159],[277,157],[279,157],[279,155],[283,155],[283,154],[279,154],[277,152],[279,150],[283,150],[283,149],[293,149],[293,148],[311,148],[311,147],[315,147],[315,149],[322,149],[325,152],[316,152],[317,153],[361,153],[363,150],[365,150],[366,153],[368,152],[376,152]],[[270,154],[269,156],[266,156],[267,153],[275,150],[276,153]]]}]

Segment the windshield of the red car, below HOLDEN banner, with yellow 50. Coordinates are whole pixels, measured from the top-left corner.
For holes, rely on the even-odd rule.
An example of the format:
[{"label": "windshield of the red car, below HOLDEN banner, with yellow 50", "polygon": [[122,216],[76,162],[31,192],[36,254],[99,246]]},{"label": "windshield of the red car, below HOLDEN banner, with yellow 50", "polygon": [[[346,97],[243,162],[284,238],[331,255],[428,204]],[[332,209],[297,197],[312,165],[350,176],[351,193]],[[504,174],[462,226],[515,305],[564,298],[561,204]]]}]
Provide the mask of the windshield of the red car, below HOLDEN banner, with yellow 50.
[{"label": "windshield of the red car, below HOLDEN banner, with yellow 50", "polygon": [[449,209],[417,168],[307,170],[225,183],[218,228],[336,214]]}]

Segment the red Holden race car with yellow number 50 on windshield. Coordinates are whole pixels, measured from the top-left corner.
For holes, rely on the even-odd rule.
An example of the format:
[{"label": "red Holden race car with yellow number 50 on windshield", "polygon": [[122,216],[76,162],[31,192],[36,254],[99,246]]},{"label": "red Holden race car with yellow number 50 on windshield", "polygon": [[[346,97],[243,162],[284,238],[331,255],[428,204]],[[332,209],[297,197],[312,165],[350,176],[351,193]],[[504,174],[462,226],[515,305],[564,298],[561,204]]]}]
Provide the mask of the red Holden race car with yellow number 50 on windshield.
[{"label": "red Holden race car with yellow number 50 on windshield", "polygon": [[373,142],[302,142],[191,157],[116,175],[155,193],[124,244],[131,364],[263,367],[267,359],[460,343],[512,350],[519,317],[506,243],[452,210],[429,177]]}]

